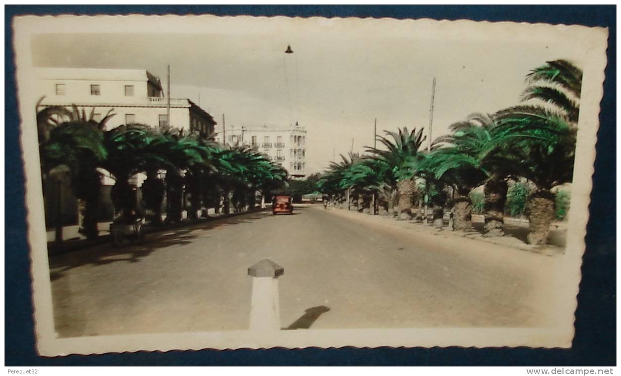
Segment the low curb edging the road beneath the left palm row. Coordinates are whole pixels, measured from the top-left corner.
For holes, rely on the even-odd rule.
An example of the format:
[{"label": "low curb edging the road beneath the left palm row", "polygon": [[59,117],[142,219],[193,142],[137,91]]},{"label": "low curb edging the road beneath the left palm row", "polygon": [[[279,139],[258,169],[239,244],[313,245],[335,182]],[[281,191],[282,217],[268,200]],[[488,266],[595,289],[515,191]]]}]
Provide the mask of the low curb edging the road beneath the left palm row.
[{"label": "low curb edging the road beneath the left palm row", "polygon": [[[205,222],[211,222],[211,221],[215,221],[217,219],[226,219],[226,218],[230,218],[230,217],[237,217],[237,216],[241,216],[242,214],[250,214],[253,212],[260,212],[260,211],[266,211],[269,210],[268,208],[266,209],[252,209],[252,210],[248,210],[248,211],[241,211],[241,212],[235,212],[235,213],[230,213],[230,214],[224,214],[222,216],[217,216],[217,217],[207,217],[207,218],[199,218],[199,219],[195,219],[195,220],[186,220],[186,221],[181,221],[178,223],[173,223],[173,224],[167,224],[167,225],[161,225],[158,227],[151,227],[151,226],[145,226],[145,234],[155,234],[157,232],[164,232],[167,230],[172,230],[172,229],[178,229],[179,227],[187,227],[187,226],[191,226],[191,225],[195,225],[195,224],[201,224],[201,223],[205,223]],[[111,242],[110,239],[110,235],[101,235],[99,237],[97,237],[96,239],[93,240],[68,240],[65,242],[60,243],[60,245],[57,245],[54,242],[48,242],[47,243],[47,253],[48,256],[56,256],[56,255],[62,255],[63,253],[68,253],[68,252],[72,252],[72,251],[77,251],[77,250],[82,250],[84,248],[90,248],[90,247],[95,247],[96,245],[102,245],[105,243]]]}]

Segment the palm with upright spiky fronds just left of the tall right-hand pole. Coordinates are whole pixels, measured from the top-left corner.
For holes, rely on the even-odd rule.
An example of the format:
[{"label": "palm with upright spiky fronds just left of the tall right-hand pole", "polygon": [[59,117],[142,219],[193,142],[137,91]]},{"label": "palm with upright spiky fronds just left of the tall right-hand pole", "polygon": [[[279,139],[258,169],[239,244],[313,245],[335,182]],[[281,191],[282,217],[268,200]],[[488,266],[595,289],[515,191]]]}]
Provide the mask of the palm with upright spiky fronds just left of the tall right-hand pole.
[{"label": "palm with upright spiky fronds just left of the tall right-hand pole", "polygon": [[[420,153],[420,146],[425,141],[426,137],[423,136],[423,129],[419,131],[412,129],[408,131],[407,127],[399,129],[398,133],[391,131],[384,131],[388,137],[378,136],[378,141],[383,144],[386,149],[378,149],[376,147],[366,147],[367,151],[372,155],[370,158],[381,160],[388,164],[393,172],[392,177],[388,177],[393,188],[396,188],[399,195],[399,203],[397,206],[397,214],[401,217],[410,217],[410,208],[412,207],[412,201],[414,193],[416,191],[415,181],[412,176],[399,174],[399,170],[404,168],[404,164],[412,158],[415,158]],[[400,177],[397,178],[397,175]]]}]

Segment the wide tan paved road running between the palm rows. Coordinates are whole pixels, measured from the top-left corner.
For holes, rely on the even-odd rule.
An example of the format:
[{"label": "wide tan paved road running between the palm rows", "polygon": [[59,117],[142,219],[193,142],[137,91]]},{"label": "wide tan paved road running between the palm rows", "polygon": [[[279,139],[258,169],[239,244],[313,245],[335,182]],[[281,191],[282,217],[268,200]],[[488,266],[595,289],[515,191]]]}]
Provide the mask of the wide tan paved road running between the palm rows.
[{"label": "wide tan paved road running between the palm rows", "polygon": [[55,256],[56,328],[63,337],[246,329],[247,268],[263,258],[285,268],[283,328],[542,323],[542,275],[552,258],[501,255],[497,246],[388,222],[312,206],[152,234],[137,247]]}]

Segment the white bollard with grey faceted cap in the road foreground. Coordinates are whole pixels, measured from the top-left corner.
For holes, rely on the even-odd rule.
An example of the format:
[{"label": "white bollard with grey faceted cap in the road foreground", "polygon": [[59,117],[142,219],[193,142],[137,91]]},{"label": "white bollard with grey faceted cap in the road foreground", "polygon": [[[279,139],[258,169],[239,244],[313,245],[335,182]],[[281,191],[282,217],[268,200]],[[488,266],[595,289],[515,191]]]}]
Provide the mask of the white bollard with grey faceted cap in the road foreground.
[{"label": "white bollard with grey faceted cap in the road foreground", "polygon": [[248,268],[248,275],[253,277],[250,330],[281,329],[278,277],[283,274],[284,268],[268,259],[261,260]]}]

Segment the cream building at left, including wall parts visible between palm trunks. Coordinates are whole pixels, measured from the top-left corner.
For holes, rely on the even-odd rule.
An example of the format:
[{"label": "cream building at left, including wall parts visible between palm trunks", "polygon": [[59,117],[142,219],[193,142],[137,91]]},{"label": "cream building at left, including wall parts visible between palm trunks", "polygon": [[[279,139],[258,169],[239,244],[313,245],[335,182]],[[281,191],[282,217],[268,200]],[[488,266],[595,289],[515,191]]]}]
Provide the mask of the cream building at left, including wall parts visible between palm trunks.
[{"label": "cream building at left, including wall parts visible between palm trunks", "polygon": [[[168,121],[168,98],[160,79],[144,69],[91,69],[91,68],[37,68],[37,89],[44,97],[40,105],[71,107],[101,120],[111,111],[115,115],[106,122],[106,129],[119,125],[142,123],[156,128],[168,126],[183,129],[185,134],[198,134],[203,138],[214,136],[216,125],[214,118],[189,99],[170,99],[170,123]],[[114,178],[109,172],[101,170],[102,190],[99,208],[99,220],[110,221],[113,216],[110,200],[111,186]],[[130,178],[138,187],[145,180],[139,173]],[[45,217],[48,225],[55,224],[58,217],[63,224],[75,224],[78,221],[76,199],[70,190],[57,191],[54,184],[48,184],[45,197]],[[63,182],[63,187],[69,181]],[[63,195],[60,214],[57,209],[57,196]],[[50,199],[51,198],[51,199]]]}]

